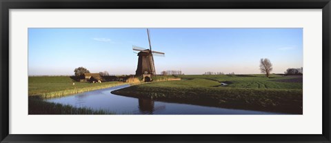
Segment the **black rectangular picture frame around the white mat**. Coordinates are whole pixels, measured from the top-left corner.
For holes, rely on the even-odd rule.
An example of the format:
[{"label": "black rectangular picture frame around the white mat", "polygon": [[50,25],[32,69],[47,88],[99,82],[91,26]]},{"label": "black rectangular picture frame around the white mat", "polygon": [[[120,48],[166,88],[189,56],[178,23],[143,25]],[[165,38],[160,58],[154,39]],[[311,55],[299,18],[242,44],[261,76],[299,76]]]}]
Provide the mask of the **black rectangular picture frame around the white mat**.
[{"label": "black rectangular picture frame around the white mat", "polygon": [[[330,139],[330,0],[0,0],[1,142],[331,142]],[[163,9],[322,9],[323,131],[321,135],[14,135],[9,134],[9,10],[79,8]],[[310,123],[314,124],[314,123]]]}]

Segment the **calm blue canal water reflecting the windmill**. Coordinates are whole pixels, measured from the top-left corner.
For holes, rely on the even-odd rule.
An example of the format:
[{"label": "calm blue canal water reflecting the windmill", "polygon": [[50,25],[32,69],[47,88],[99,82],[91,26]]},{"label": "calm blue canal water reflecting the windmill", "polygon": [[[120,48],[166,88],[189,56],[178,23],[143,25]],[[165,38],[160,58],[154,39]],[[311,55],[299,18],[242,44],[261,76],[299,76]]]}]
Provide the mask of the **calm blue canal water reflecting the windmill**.
[{"label": "calm blue canal water reflecting the windmill", "polygon": [[75,107],[106,109],[117,114],[154,114],[154,115],[265,115],[280,114],[262,111],[245,111],[238,109],[197,106],[157,102],[151,99],[124,97],[110,93],[112,90],[126,88],[130,85],[115,86],[101,90],[93,90],[77,95],[46,99],[48,102],[68,104]]}]

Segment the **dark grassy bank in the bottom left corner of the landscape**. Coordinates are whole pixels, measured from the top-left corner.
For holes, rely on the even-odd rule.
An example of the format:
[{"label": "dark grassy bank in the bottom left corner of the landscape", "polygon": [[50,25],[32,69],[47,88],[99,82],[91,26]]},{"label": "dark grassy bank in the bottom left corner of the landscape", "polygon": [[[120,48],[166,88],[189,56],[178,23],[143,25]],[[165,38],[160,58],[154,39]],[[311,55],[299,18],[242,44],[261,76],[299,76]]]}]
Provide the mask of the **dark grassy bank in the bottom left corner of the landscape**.
[{"label": "dark grassy bank in the bottom left corner of the landscape", "polygon": [[70,105],[45,102],[39,96],[29,97],[29,115],[109,115],[112,111],[76,108]]}]

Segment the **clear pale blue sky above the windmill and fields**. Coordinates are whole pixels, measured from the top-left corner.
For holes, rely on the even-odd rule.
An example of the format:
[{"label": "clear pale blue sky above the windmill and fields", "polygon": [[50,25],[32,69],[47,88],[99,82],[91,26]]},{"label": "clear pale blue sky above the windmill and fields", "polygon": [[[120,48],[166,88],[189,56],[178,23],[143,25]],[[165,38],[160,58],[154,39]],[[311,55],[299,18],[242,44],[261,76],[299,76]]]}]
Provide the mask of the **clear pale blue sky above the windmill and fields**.
[{"label": "clear pale blue sky above the windmill and fields", "polygon": [[[302,28],[150,28],[157,73],[181,70],[260,73],[268,58],[272,73],[303,66]],[[28,28],[28,75],[134,74],[138,57],[132,45],[148,48],[146,28]]]}]

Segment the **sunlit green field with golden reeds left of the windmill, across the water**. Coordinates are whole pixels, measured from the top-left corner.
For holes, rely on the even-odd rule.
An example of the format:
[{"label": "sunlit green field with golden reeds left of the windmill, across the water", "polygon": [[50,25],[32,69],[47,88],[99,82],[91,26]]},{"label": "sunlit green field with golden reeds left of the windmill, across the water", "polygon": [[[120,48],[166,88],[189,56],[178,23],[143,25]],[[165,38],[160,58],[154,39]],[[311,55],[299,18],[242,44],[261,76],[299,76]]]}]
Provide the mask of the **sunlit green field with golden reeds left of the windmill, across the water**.
[{"label": "sunlit green field with golden reeds left of the windmill, across the water", "polygon": [[103,82],[91,84],[88,82],[74,82],[66,76],[57,77],[29,77],[29,96],[39,95],[43,98],[62,97],[91,90],[109,88],[127,84],[124,82]]}]

